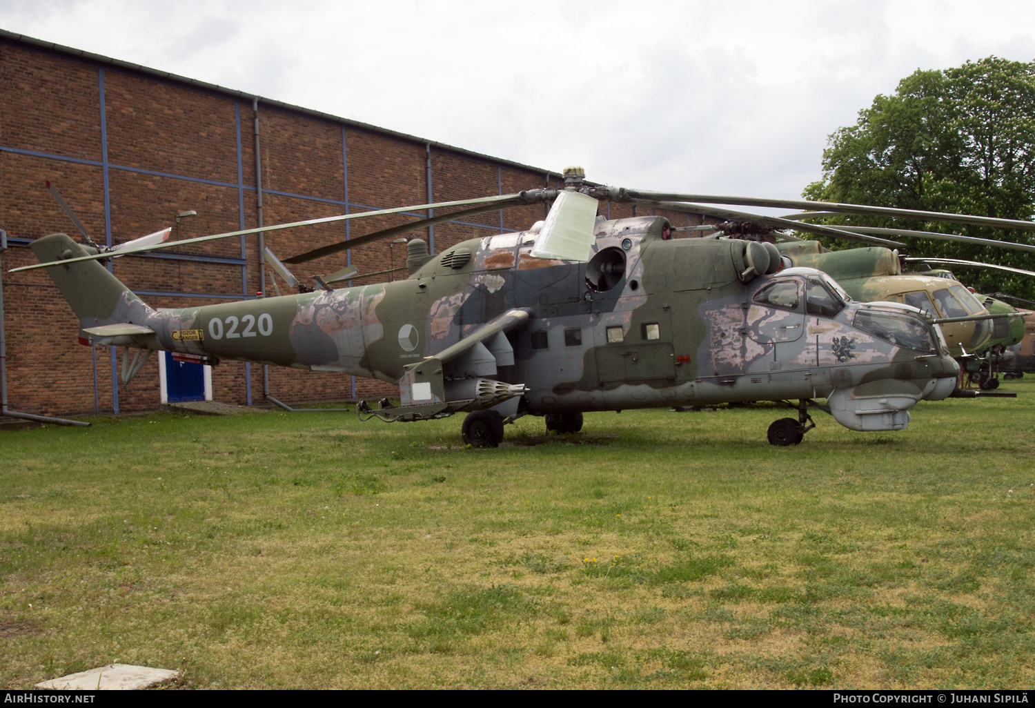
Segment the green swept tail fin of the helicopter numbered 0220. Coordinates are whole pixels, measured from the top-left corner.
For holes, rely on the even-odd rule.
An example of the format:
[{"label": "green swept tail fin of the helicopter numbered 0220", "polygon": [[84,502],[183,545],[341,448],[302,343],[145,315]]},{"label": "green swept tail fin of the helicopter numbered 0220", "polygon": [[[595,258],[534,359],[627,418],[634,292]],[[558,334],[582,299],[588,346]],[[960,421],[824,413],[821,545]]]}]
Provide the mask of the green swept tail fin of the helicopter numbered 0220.
[{"label": "green swept tail fin of the helicopter numbered 0220", "polygon": [[46,268],[47,274],[71,305],[81,328],[123,322],[144,324],[153,312],[99,261],[60,265],[65,259],[95,253],[67,235],[43,236],[33,241],[31,247],[40,263],[55,263]]}]

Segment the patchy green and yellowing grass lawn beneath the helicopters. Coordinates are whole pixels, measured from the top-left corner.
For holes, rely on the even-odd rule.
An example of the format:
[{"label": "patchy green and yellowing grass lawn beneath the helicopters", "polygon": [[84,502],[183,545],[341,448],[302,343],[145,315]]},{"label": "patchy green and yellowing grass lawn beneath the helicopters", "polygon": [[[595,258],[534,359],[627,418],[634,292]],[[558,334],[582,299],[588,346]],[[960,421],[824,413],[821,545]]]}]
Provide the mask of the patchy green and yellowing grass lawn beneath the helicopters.
[{"label": "patchy green and yellowing grass lawn beneath the helicopters", "polygon": [[909,430],[773,407],[0,432],[0,685],[1035,684],[1035,382]]}]

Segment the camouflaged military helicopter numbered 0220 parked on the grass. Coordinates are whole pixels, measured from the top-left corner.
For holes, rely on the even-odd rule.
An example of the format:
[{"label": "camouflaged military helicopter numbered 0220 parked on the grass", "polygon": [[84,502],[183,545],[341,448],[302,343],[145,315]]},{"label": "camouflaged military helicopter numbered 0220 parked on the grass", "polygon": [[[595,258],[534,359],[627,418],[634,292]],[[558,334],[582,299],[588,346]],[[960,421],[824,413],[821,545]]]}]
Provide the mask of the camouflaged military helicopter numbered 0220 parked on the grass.
[{"label": "camouflaged military helicopter numbered 0220 parked on the grass", "polygon": [[[892,431],[907,426],[919,401],[953,392],[959,367],[938,326],[943,320],[906,304],[856,302],[820,270],[783,267],[776,246],[760,235],[795,229],[893,241],[693,203],[773,206],[772,200],[591,185],[584,174],[566,170],[564,189],[307,219],[116,254],[463,207],[284,260],[298,263],[481,211],[553,203],[528,231],[471,239],[435,256],[422,239],[410,240],[405,281],[156,312],[97,263],[110,254],[64,234],[34,241],[40,263],[14,270],[47,269],[79,317],[84,341],[143,352],[131,363],[124,354],[123,381],[153,350],[200,362],[237,359],[374,377],[398,384],[401,405],[360,402],[361,417],[412,421],[467,413],[463,437],[473,446],[495,447],[504,423],[528,414],[545,416],[549,430],[571,433],[587,411],[797,400],[797,419],[781,418],[768,431],[769,442],[790,445],[815,427],[810,404],[852,430]],[[673,239],[662,216],[597,216],[600,200],[729,220],[709,227],[718,233]],[[803,204],[917,213],[775,206]],[[966,218],[1035,230],[1025,222]],[[290,275],[271,254],[267,260]]]}]

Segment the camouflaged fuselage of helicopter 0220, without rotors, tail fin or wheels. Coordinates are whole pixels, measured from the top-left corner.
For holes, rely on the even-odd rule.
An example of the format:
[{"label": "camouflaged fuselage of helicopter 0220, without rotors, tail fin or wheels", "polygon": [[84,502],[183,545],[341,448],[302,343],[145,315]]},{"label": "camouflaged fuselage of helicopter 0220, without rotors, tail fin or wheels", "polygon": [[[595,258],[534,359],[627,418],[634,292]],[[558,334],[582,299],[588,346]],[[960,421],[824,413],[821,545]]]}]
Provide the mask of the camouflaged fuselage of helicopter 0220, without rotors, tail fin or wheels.
[{"label": "camouflaged fuselage of helicopter 0220, without rotors, tail fin or wheels", "polygon": [[938,331],[905,308],[848,301],[809,268],[745,284],[742,241],[662,240],[663,223],[598,223],[586,262],[532,258],[534,233],[503,234],[460,243],[406,281],[162,311],[148,326],[171,351],[396,382],[526,309],[507,333],[512,356],[490,365],[529,388],[533,413],[811,399],[885,379],[919,400],[954,380]]}]

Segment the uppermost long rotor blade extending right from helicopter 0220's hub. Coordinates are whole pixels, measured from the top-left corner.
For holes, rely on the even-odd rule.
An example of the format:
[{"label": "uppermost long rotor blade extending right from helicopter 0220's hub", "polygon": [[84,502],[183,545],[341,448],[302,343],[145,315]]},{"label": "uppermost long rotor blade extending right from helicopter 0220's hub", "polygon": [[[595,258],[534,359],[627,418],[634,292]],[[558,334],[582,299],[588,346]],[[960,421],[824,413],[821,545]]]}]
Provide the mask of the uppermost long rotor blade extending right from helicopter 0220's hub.
[{"label": "uppermost long rotor blade extending right from helicopter 0220's hub", "polygon": [[626,189],[625,187],[607,187],[611,198],[623,201],[624,198],[656,199],[674,202],[704,202],[705,204],[734,204],[737,206],[777,207],[785,209],[824,209],[841,214],[857,214],[861,216],[894,216],[897,218],[918,218],[925,222],[949,222],[951,224],[972,224],[974,226],[990,226],[1000,229],[1017,229],[1035,231],[1035,222],[1021,222],[1013,218],[995,218],[992,216],[974,216],[971,214],[948,214],[941,211],[918,211],[916,209],[895,209],[892,207],[875,207],[861,204],[839,204],[836,202],[809,202],[803,199],[763,199],[758,197],[726,197],[716,195],[678,195],[663,191],[643,191]]}]

